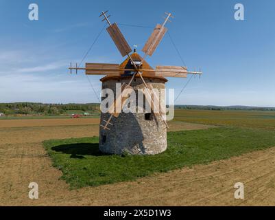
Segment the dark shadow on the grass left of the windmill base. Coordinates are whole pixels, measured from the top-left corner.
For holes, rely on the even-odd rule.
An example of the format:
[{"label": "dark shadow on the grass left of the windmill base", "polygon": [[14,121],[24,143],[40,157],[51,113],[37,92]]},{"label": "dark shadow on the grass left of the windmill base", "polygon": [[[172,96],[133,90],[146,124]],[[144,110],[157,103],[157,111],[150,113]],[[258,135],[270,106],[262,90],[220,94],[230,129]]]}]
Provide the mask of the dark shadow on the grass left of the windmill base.
[{"label": "dark shadow on the grass left of the windmill base", "polygon": [[62,144],[59,146],[53,146],[51,150],[71,154],[71,158],[77,159],[84,159],[85,155],[95,157],[108,155],[99,151],[99,145],[97,143]]}]

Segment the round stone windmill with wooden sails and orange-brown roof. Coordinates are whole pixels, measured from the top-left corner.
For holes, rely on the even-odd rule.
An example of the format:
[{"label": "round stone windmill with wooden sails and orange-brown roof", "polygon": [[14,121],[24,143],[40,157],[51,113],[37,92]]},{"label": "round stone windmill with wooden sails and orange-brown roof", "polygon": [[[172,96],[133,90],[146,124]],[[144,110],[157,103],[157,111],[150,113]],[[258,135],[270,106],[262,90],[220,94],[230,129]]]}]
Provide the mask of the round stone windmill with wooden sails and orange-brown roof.
[{"label": "round stone windmill with wooden sails and orange-brown roof", "polygon": [[[160,96],[161,89],[165,89],[167,79],[165,77],[186,78],[187,74],[202,74],[202,72],[188,72],[187,67],[180,66],[156,66],[152,68],[146,61],[147,55],[152,56],[156,47],[167,32],[165,24],[171,13],[166,13],[162,25],[157,24],[147,43],[143,47],[144,55],[141,57],[132,49],[119,30],[117,23],[110,23],[102,12],[99,17],[104,17],[109,27],[106,29],[114,41],[121,56],[127,58],[123,63],[86,63],[85,68],[70,67],[69,69],[84,69],[87,75],[106,75],[101,78],[102,89],[111,89],[115,94],[115,100],[108,104],[108,112],[101,112],[99,126],[99,149],[104,153],[122,154],[124,152],[141,155],[154,155],[167,149],[167,122],[165,100]],[[117,91],[117,84],[121,90]],[[144,104],[134,100],[136,111],[125,113],[121,111],[128,100],[128,91],[142,90],[145,102],[150,103],[151,111],[144,110]],[[104,100],[102,98],[102,100]],[[140,109],[141,108],[141,109]],[[158,111],[155,111],[158,109]]]}]

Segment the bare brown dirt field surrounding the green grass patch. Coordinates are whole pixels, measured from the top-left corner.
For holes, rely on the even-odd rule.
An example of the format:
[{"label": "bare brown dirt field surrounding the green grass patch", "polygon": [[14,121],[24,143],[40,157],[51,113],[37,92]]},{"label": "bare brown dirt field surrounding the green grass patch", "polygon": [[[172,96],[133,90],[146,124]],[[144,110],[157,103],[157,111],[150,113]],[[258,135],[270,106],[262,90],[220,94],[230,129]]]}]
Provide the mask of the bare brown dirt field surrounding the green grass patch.
[{"label": "bare brown dirt field surrounding the green grass patch", "polygon": [[[62,173],[51,166],[42,141],[98,135],[97,123],[96,119],[1,121],[0,205],[275,205],[275,148],[137,181],[69,190],[59,179]],[[170,127],[177,131],[208,126],[172,122]],[[28,198],[32,181],[39,186],[36,200]],[[237,181],[245,184],[243,200],[234,199]]]}]

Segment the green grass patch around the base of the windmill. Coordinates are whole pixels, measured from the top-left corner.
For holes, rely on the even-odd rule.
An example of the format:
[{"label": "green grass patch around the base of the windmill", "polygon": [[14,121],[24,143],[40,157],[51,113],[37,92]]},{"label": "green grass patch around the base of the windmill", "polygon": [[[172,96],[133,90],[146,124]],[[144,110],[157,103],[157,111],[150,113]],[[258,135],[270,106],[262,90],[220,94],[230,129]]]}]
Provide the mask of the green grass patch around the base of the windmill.
[{"label": "green grass patch around the base of the windmill", "polygon": [[167,133],[167,151],[159,155],[106,155],[98,137],[43,142],[53,165],[71,188],[132,181],[153,173],[207,164],[275,146],[275,131],[219,127]]}]

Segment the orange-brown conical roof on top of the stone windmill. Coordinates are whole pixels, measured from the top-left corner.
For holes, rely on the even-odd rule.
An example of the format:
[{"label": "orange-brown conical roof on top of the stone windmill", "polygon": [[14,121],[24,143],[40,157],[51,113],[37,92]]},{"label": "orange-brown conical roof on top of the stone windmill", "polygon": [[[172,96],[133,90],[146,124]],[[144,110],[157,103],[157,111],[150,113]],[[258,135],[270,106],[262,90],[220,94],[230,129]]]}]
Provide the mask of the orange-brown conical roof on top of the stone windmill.
[{"label": "orange-brown conical roof on top of the stone windmill", "polygon": [[[137,54],[136,52],[132,53],[130,56],[133,61],[141,61],[142,60],[142,57],[139,54]],[[121,65],[119,65],[119,67],[120,67],[120,69],[134,69],[129,57],[126,58],[125,61],[123,61],[123,63],[121,63]],[[142,71],[142,69],[153,69],[153,68],[146,61],[143,61],[141,71]],[[156,76],[155,72],[145,72],[144,71],[142,76],[143,76],[143,78],[155,78],[155,79],[163,80],[165,82],[168,81],[163,76]],[[132,77],[130,72],[125,71],[125,72],[121,72],[120,76],[108,76],[107,75],[107,76],[104,76],[104,78],[101,78],[100,80],[101,80],[101,82],[104,82],[109,79],[121,79],[121,78],[130,78],[130,77]],[[140,77],[139,74],[137,74],[136,77]]]}]

